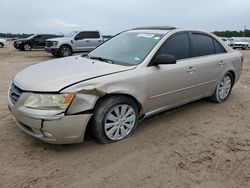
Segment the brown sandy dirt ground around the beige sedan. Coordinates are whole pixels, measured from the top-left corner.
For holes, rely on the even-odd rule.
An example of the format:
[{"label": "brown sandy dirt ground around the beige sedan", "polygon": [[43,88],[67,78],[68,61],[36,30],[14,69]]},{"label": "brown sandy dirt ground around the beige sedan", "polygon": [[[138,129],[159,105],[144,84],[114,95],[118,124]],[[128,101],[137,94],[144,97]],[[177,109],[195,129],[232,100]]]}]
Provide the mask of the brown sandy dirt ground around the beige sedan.
[{"label": "brown sandy dirt ground around the beige sedan", "polygon": [[50,145],[23,133],[6,94],[21,69],[53,57],[0,49],[0,187],[250,187],[250,50],[223,104],[199,100],[140,123],[130,138]]}]

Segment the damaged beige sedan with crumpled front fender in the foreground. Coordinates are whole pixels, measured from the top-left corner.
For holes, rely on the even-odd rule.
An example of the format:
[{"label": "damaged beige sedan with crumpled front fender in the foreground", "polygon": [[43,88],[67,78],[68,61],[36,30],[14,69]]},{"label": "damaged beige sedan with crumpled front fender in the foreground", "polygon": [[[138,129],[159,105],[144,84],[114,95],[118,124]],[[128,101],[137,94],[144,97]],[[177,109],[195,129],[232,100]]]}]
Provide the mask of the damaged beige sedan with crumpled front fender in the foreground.
[{"label": "damaged beige sedan with crumpled front fender in the foreground", "polygon": [[[73,40],[73,39],[72,39]],[[213,34],[175,27],[122,32],[92,52],[32,65],[9,87],[17,125],[48,143],[130,136],[138,121],[210,97],[227,100],[243,57]]]}]

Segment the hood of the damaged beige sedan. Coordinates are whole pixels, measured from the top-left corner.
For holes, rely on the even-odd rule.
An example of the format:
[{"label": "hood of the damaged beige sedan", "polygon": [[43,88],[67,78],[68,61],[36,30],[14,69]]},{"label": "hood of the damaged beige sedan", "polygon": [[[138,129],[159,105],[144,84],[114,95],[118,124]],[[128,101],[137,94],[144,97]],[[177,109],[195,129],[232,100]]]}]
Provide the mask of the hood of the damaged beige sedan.
[{"label": "hood of the damaged beige sedan", "polygon": [[58,92],[74,83],[134,69],[81,56],[51,60],[32,65],[14,77],[14,84],[25,91]]}]

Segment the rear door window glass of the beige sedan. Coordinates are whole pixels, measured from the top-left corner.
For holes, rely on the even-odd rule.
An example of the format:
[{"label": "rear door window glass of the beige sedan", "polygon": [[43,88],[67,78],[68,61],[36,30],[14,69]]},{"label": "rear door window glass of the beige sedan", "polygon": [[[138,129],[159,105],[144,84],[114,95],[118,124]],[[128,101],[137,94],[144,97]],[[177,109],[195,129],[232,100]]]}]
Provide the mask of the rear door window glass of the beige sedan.
[{"label": "rear door window glass of the beige sedan", "polygon": [[213,39],[207,35],[192,34],[192,57],[214,54]]}]

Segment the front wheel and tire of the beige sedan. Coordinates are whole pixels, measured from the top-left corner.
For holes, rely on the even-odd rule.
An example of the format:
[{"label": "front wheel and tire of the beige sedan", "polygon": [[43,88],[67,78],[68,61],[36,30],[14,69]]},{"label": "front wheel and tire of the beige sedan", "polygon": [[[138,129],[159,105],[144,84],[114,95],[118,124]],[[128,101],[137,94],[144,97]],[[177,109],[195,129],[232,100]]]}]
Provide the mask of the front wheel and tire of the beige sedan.
[{"label": "front wheel and tire of the beige sedan", "polygon": [[94,109],[92,133],[102,144],[129,137],[137,125],[138,107],[130,97],[108,97],[98,102]]}]

